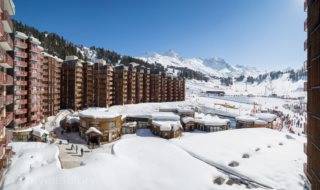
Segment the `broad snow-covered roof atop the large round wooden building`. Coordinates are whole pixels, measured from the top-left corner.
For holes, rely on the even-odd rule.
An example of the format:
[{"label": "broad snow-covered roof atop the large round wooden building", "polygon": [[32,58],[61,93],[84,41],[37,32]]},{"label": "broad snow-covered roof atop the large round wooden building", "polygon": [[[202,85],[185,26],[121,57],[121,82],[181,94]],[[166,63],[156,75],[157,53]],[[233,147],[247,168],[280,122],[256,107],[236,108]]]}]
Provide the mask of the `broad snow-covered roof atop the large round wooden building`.
[{"label": "broad snow-covered roof atop the large round wooden building", "polygon": [[121,115],[117,112],[111,112],[107,108],[88,108],[81,111],[79,116],[93,119],[112,119]]}]

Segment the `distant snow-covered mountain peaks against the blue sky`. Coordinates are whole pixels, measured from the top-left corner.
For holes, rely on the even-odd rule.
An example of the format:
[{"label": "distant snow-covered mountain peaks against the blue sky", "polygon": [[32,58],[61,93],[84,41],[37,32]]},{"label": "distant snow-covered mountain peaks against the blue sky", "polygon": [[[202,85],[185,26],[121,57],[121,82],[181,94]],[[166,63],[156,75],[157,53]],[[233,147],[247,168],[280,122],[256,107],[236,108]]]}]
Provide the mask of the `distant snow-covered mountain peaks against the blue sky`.
[{"label": "distant snow-covered mountain peaks against the blue sky", "polygon": [[261,74],[254,67],[246,67],[240,65],[230,65],[224,59],[219,57],[213,58],[184,58],[173,50],[165,53],[146,53],[144,56],[138,57],[149,63],[160,63],[164,67],[187,67],[194,71],[200,71],[208,76],[216,77],[237,77],[240,75],[257,76]]}]

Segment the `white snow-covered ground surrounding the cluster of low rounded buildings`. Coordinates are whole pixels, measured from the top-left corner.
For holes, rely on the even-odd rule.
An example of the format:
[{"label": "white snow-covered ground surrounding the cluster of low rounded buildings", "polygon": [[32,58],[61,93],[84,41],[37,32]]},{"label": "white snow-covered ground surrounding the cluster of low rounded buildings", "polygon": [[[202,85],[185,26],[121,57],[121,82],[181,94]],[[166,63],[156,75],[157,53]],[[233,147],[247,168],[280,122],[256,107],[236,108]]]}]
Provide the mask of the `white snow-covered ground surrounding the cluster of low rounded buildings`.
[{"label": "white snow-covered ground surrounding the cluster of low rounded buildings", "polygon": [[[159,108],[193,108],[200,113],[236,117],[270,109],[288,115],[292,122],[281,132],[270,129],[196,131],[170,141],[139,130],[112,144],[86,151],[83,157],[67,155],[71,159],[62,158],[68,154],[66,145],[15,142],[11,145],[16,154],[5,176],[4,189],[245,189],[244,184],[230,182],[234,176],[276,189],[303,189],[305,136],[288,133],[289,127],[293,127],[294,133],[301,134],[304,115],[292,109],[301,104],[300,100],[261,96],[263,87],[252,87],[252,90],[249,87],[254,96],[248,97],[249,93],[245,93],[240,84],[224,87],[215,81],[192,80],[186,85],[186,101],[119,105],[108,110],[126,116],[152,115]],[[235,91],[238,87],[242,91]],[[203,93],[212,89],[225,90],[227,96],[208,97]],[[296,97],[300,96],[299,87],[292,91],[295,92]],[[77,117],[76,114],[62,110],[48,118],[44,128],[57,130],[63,118]],[[297,121],[300,121],[299,127]],[[77,134],[70,138],[73,136]],[[77,160],[77,167],[61,167],[65,160],[73,159]],[[214,183],[218,178],[221,185]]]}]

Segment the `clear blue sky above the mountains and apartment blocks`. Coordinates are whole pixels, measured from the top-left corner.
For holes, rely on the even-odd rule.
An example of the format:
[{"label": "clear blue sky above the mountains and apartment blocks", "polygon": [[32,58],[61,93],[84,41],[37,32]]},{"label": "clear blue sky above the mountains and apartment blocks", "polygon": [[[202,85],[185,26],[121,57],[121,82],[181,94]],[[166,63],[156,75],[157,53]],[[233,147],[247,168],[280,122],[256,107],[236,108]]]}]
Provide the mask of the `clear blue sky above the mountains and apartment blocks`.
[{"label": "clear blue sky above the mountains and apartment blocks", "polygon": [[260,69],[305,60],[303,0],[14,0],[17,20],[122,54],[173,49]]}]

